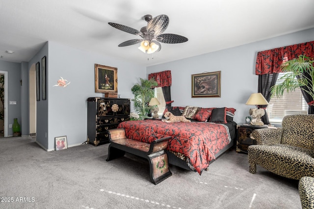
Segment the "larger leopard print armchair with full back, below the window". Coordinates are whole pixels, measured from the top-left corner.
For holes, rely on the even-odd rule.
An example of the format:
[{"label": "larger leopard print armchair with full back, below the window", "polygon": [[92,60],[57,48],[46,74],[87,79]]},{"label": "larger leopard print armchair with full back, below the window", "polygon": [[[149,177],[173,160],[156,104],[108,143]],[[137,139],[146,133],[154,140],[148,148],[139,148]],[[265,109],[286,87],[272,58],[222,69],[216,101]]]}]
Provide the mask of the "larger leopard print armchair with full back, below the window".
[{"label": "larger leopard print armchair with full back, below the window", "polygon": [[248,147],[250,173],[258,164],[290,179],[314,177],[314,115],[285,116],[282,128],[256,129],[252,137],[257,145]]}]

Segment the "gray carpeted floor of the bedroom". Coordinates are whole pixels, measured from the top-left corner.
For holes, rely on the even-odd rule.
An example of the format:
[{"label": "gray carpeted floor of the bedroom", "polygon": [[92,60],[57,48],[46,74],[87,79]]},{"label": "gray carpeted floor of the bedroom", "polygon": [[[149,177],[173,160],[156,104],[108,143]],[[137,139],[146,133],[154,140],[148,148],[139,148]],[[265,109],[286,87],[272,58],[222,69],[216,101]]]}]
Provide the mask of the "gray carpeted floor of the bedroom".
[{"label": "gray carpeted floor of the bedroom", "polygon": [[131,154],[106,162],[108,144],[47,152],[35,137],[0,139],[0,208],[301,209],[298,181],[228,151],[198,173],[170,165],[154,185],[149,164]]}]

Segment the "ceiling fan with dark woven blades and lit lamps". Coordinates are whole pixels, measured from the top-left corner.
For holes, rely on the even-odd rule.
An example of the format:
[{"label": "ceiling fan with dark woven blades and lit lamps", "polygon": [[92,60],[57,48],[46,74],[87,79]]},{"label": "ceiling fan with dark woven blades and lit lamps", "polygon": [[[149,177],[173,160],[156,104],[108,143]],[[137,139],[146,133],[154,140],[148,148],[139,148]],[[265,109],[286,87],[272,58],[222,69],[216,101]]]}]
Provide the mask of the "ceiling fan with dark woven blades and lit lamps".
[{"label": "ceiling fan with dark woven blades and lit lamps", "polygon": [[153,18],[152,15],[145,15],[144,19],[147,22],[147,26],[142,27],[140,31],[123,24],[108,23],[112,27],[115,27],[119,30],[141,37],[141,39],[125,41],[118,46],[131,46],[141,43],[141,46],[138,48],[144,53],[150,54],[161,50],[161,45],[159,42],[165,44],[178,44],[188,41],[188,39],[184,36],[177,34],[162,34],[167,29],[169,24],[169,17],[167,15],[158,15],[155,18]]}]

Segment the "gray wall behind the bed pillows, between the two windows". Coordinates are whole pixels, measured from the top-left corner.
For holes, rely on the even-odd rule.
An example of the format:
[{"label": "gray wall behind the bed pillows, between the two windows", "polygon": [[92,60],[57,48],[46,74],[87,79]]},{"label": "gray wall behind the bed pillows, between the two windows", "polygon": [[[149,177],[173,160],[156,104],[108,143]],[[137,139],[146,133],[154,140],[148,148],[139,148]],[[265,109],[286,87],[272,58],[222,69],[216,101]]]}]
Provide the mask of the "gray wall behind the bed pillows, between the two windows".
[{"label": "gray wall behind the bed pillows, between the two windows", "polygon": [[[151,66],[147,68],[147,76],[152,72],[171,70],[173,106],[233,107],[236,109],[235,121],[243,123],[249,109],[254,107],[245,103],[251,93],[258,91],[258,76],[255,75],[257,52],[313,40],[314,28]],[[221,97],[191,97],[191,75],[205,71],[221,71]]]}]

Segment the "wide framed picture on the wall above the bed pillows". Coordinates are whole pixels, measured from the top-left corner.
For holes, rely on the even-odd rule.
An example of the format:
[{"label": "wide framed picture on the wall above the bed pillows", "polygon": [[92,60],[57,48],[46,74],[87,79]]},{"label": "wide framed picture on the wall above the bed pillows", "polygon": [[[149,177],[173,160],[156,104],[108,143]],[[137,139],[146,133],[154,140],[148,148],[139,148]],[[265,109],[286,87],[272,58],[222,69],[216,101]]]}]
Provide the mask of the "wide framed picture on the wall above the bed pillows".
[{"label": "wide framed picture on the wall above the bed pillows", "polygon": [[192,97],[220,97],[221,71],[192,75]]}]

